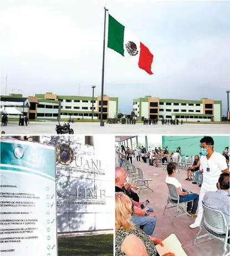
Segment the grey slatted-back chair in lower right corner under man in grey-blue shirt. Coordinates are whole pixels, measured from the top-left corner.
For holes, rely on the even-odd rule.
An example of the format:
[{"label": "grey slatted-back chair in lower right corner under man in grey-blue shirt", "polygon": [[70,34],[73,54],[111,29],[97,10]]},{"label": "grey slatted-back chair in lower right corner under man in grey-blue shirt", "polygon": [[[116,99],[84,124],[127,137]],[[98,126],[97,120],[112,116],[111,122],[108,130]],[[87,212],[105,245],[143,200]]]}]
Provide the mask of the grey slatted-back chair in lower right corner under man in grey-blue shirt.
[{"label": "grey slatted-back chair in lower right corner under man in grey-blue shirt", "polygon": [[[230,226],[227,224],[226,216],[220,210],[209,208],[205,206],[203,203],[202,203],[202,206],[203,206],[203,217],[200,224],[200,230],[195,237],[193,245],[195,245],[197,239],[211,235],[213,238],[221,240],[224,243],[223,245],[224,252],[222,256],[229,255],[229,253],[227,253],[228,252],[227,242],[229,238],[228,233],[229,233]],[[206,230],[207,233],[199,236],[203,228]]]}]

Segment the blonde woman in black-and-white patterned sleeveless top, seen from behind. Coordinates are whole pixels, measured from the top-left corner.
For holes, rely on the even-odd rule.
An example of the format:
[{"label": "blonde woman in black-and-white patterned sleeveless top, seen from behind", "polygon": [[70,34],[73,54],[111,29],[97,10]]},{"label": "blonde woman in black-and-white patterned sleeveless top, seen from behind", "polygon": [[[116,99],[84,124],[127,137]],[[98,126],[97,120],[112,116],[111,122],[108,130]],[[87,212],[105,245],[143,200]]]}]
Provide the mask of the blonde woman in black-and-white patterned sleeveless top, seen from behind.
[{"label": "blonde woman in black-and-white patterned sleeveless top, seen from behind", "polygon": [[[139,227],[131,223],[134,213],[132,200],[122,192],[115,193],[115,252],[116,256],[157,256],[155,244],[162,240],[145,234]],[[175,256],[166,253],[162,256]]]}]

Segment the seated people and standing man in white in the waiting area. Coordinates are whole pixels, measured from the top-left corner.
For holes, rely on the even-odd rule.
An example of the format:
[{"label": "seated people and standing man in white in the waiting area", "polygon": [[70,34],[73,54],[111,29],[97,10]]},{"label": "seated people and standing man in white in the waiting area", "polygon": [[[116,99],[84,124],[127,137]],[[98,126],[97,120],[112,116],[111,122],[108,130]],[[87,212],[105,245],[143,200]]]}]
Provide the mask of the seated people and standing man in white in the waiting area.
[{"label": "seated people and standing man in white in the waiting area", "polygon": [[[140,148],[140,152],[148,153],[143,148]],[[191,229],[200,227],[203,215],[202,203],[209,208],[220,210],[226,216],[229,225],[229,170],[226,160],[226,155],[229,155],[227,153],[228,149],[225,150],[226,155],[214,151],[212,137],[202,138],[200,148],[200,155],[195,156],[193,164],[187,169],[188,173],[196,170],[196,172],[199,171],[202,174],[200,194],[188,192],[186,188],[182,187],[180,180],[176,178],[178,162],[173,162],[172,157],[171,161],[167,163],[165,183],[176,187],[180,196],[179,202],[187,202],[187,215],[195,218],[195,222],[190,225]],[[126,152],[125,148],[121,151]],[[139,150],[136,149],[137,160],[138,152]],[[167,147],[163,149],[155,148],[153,154],[162,156],[162,152],[168,154]],[[180,155],[181,148],[178,147],[172,156],[174,154]],[[139,188],[129,182],[129,176],[122,169],[122,164],[115,170],[115,185],[116,255],[158,255],[155,245],[163,244],[161,239],[154,237],[156,213],[149,205],[147,205],[147,208],[143,208],[142,204],[144,202],[140,202],[139,196],[135,193],[135,190]],[[169,252],[165,255],[174,254]]]}]

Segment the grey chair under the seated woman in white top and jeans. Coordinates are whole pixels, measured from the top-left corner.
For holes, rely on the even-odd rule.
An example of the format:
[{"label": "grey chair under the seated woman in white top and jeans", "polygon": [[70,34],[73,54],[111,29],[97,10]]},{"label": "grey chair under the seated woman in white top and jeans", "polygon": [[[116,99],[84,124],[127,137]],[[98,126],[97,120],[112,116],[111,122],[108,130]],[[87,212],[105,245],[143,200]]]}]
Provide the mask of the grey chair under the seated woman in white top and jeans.
[{"label": "grey chair under the seated woman in white top and jeans", "polygon": [[[170,208],[175,208],[176,207],[176,215],[174,215],[174,218],[172,220],[172,225],[173,225],[175,218],[181,217],[183,215],[187,215],[187,203],[188,202],[192,202],[192,200],[180,203],[179,202],[180,195],[178,193],[178,190],[177,190],[176,186],[172,185],[172,184],[168,184],[168,183],[166,183],[166,184],[168,186],[168,199],[167,199],[166,207],[163,210],[163,215],[165,215],[165,210],[166,209],[170,209]],[[173,206],[167,207],[169,203],[173,204]],[[184,205],[185,209],[183,209],[183,207],[181,205]],[[180,213],[179,209],[182,210],[183,213],[179,214]]]}]

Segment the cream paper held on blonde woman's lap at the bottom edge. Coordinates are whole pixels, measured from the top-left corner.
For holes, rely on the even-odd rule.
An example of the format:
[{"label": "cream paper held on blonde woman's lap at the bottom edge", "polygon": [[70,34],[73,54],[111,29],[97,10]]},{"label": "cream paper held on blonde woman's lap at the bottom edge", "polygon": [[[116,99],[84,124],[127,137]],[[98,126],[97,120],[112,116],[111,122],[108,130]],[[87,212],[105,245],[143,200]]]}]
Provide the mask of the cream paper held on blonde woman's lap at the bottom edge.
[{"label": "cream paper held on blonde woman's lap at the bottom edge", "polygon": [[156,245],[157,252],[162,256],[166,253],[174,253],[175,256],[187,256],[185,251],[182,248],[181,242],[178,240],[175,234],[171,234],[169,237],[167,237],[165,240],[163,240],[163,245],[160,244]]}]

